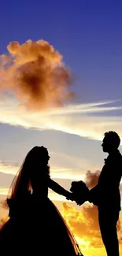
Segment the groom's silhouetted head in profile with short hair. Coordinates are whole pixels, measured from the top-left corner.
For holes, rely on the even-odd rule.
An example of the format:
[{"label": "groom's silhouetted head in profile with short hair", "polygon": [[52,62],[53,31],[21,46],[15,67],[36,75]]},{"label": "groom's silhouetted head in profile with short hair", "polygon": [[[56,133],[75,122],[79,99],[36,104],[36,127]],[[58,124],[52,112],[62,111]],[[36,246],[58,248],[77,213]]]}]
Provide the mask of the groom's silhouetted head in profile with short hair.
[{"label": "groom's silhouetted head in profile with short hair", "polygon": [[120,146],[120,137],[116,132],[105,132],[104,139],[102,140],[102,150],[110,153]]}]

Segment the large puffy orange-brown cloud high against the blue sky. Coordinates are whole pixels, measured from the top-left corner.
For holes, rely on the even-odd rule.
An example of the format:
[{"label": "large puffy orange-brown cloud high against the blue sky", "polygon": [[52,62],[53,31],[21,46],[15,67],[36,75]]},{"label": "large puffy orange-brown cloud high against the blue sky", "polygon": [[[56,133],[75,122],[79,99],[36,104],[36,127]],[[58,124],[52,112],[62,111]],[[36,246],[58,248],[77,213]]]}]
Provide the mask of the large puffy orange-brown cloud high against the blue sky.
[{"label": "large puffy orange-brown cloud high against the blue sky", "polygon": [[74,95],[69,91],[71,72],[61,54],[44,40],[9,43],[9,54],[0,56],[0,90],[13,93],[29,109],[63,106]]}]

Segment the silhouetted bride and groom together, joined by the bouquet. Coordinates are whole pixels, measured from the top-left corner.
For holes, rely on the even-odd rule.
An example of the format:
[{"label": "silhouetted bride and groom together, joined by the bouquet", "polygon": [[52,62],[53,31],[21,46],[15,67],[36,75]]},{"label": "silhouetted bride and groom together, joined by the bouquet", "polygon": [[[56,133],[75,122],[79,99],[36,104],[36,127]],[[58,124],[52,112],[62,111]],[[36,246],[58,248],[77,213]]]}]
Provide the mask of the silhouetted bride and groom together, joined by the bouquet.
[{"label": "silhouetted bride and groom together, joined by the bouquet", "polygon": [[9,220],[0,229],[1,250],[7,255],[82,255],[61,213],[48,198],[48,188],[75,201],[98,206],[98,221],[108,256],[119,256],[116,223],[120,213],[122,156],[116,132],[106,132],[102,148],[109,153],[98,184],[91,190],[82,181],[73,181],[66,191],[50,178],[45,147],[33,147],[24,159],[9,189]]}]

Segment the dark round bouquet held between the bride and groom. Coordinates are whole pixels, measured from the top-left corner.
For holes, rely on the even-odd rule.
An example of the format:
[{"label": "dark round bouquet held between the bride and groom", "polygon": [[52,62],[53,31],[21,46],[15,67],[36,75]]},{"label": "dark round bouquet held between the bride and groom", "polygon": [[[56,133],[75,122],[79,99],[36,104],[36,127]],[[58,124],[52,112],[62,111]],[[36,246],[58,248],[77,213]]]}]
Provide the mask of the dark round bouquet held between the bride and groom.
[{"label": "dark round bouquet held between the bride and groom", "polygon": [[82,180],[72,181],[70,191],[72,191],[72,195],[77,205],[81,206],[88,200],[89,189]]}]

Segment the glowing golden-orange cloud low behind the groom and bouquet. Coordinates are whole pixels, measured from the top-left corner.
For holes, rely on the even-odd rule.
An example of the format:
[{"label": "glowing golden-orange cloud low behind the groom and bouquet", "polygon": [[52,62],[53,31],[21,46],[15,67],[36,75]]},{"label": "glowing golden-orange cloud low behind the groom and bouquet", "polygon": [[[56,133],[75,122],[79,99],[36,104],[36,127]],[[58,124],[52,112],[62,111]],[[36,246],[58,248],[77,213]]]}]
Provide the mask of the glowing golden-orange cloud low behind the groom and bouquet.
[{"label": "glowing golden-orange cloud low behind the groom and bouquet", "polygon": [[[99,173],[99,171],[96,171],[95,173],[91,173],[91,171],[87,172],[85,182],[89,188],[94,187],[98,183]],[[102,243],[98,224],[97,206],[87,203],[79,208],[76,208],[72,207],[67,202],[63,202],[62,214],[85,255],[105,255],[105,248]],[[121,223],[122,219],[120,217],[120,220],[117,223],[120,247],[122,246]]]}]

